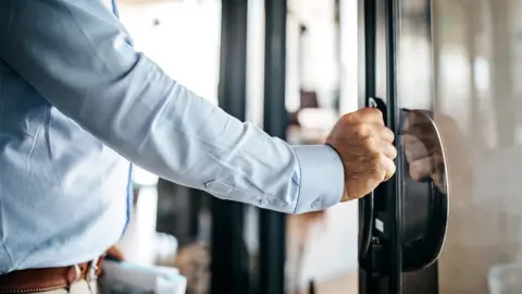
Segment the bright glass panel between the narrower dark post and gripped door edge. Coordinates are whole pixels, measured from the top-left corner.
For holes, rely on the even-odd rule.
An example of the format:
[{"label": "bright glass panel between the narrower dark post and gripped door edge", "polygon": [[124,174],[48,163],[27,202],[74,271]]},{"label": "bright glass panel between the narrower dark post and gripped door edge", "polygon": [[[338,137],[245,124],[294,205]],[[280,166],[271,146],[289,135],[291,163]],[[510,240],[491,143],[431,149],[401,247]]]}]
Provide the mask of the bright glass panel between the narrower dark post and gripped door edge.
[{"label": "bright glass panel between the narrower dark post and gripped door edge", "polygon": [[[339,110],[357,109],[357,0],[295,0],[288,8],[288,140],[322,144]],[[286,293],[312,293],[311,284],[313,293],[357,293],[356,211],[351,203],[288,216]]]}]

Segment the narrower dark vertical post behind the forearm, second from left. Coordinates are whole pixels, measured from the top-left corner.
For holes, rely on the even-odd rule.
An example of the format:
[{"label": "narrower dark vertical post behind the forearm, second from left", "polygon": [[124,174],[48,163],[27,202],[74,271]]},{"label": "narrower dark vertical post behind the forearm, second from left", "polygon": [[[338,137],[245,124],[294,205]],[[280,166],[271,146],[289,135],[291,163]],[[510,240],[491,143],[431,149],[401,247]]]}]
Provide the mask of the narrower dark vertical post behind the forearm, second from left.
[{"label": "narrower dark vertical post behind the forearm, second from left", "polygon": [[[264,0],[264,115],[263,128],[286,139],[286,0]],[[259,222],[259,293],[285,293],[286,216],[262,209]]]}]

